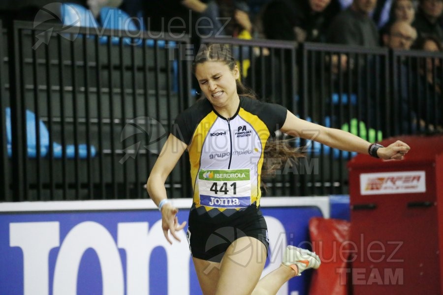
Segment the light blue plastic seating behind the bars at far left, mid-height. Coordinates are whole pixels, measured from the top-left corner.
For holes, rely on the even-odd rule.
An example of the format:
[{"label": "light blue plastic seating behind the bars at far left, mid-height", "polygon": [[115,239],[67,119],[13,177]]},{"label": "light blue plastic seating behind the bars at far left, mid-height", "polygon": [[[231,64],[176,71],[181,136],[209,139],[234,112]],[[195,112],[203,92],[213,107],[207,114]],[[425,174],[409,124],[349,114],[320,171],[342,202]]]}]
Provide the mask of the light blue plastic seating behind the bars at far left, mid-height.
[{"label": "light blue plastic seating behind the bars at far left, mid-height", "polygon": [[[8,156],[12,156],[12,128],[11,128],[11,109],[6,108],[6,146],[8,149]],[[40,132],[40,157],[45,157],[49,151],[49,131],[42,120],[39,122]],[[26,140],[28,144],[28,157],[35,158],[37,156],[37,136],[35,128],[35,114],[29,110],[26,110]],[[54,158],[61,158],[63,156],[63,147],[58,143],[53,143]],[[88,146],[85,144],[78,145],[79,158],[86,158]],[[65,147],[66,157],[75,157],[75,146],[68,145]],[[96,149],[94,146],[90,147],[90,156],[94,157]]]}]

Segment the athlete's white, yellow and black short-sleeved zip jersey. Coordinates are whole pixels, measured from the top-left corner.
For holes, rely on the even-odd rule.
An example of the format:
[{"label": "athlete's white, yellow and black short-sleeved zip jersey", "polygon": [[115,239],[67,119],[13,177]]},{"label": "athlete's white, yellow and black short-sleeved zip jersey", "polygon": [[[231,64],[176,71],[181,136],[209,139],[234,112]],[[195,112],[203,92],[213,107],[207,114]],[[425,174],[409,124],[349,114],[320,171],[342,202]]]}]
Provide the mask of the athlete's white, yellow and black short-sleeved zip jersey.
[{"label": "athlete's white, yellow and black short-sleeved zip jersey", "polygon": [[188,145],[196,208],[259,206],[265,144],[285,123],[286,112],[277,104],[240,97],[236,114],[223,118],[202,99],[176,118],[172,134]]}]

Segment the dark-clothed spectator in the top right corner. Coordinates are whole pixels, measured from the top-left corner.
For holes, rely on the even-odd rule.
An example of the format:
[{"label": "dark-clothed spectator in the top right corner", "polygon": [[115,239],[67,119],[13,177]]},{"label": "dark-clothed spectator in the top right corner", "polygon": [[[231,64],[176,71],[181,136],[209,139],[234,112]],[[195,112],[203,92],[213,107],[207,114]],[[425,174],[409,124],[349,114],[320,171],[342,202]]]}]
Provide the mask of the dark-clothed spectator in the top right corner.
[{"label": "dark-clothed spectator in the top right corner", "polygon": [[412,23],[417,29],[418,37],[435,35],[443,40],[443,29],[440,26],[439,18],[442,17],[443,0],[420,0],[415,20]]}]

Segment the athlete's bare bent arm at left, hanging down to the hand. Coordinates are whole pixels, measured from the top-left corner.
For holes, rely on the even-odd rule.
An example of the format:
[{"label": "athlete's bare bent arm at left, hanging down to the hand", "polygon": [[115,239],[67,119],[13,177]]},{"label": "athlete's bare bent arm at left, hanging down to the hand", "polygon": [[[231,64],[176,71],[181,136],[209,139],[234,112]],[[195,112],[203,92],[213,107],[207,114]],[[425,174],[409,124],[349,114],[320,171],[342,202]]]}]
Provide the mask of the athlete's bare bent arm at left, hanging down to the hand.
[{"label": "athlete's bare bent arm at left, hanging down to the hand", "polygon": [[[161,200],[167,198],[164,182],[171,173],[172,169],[174,169],[187,147],[188,146],[184,142],[170,134],[166,140],[166,143],[161,149],[160,155],[158,156],[158,159],[151,170],[151,174],[149,175],[148,182],[146,184],[148,194],[157,206]],[[163,229],[164,236],[170,244],[172,244],[172,241],[169,238],[168,230],[176,240],[180,241],[180,238],[176,235],[176,232],[181,231],[186,225],[186,221],[181,225],[178,224],[178,219],[176,216],[177,212],[178,209],[173,207],[171,203],[166,203],[163,205],[163,207],[161,207],[161,227]]]}]

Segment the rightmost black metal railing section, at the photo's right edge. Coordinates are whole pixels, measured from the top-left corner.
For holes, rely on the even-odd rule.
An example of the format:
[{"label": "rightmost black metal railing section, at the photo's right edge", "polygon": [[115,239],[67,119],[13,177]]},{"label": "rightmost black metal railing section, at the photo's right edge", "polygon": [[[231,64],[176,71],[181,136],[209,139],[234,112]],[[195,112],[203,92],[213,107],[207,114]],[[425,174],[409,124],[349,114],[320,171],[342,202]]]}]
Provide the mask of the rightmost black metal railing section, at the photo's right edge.
[{"label": "rightmost black metal railing section, at the photo's right edge", "polygon": [[442,132],[443,53],[395,51],[391,56],[392,134]]}]

